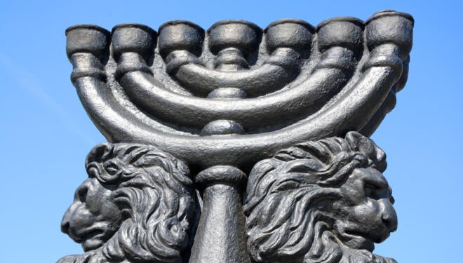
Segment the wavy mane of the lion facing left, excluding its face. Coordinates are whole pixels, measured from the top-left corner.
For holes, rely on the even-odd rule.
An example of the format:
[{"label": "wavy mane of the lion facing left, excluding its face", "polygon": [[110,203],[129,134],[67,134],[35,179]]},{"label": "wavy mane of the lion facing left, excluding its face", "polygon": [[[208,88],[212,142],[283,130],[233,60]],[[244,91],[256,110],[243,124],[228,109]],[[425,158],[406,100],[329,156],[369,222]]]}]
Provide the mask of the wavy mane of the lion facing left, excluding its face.
[{"label": "wavy mane of the lion facing left, excluding its face", "polygon": [[182,262],[195,203],[189,169],[143,144],[99,144],[86,159],[89,177],[113,189],[123,220],[95,250],[59,262]]}]

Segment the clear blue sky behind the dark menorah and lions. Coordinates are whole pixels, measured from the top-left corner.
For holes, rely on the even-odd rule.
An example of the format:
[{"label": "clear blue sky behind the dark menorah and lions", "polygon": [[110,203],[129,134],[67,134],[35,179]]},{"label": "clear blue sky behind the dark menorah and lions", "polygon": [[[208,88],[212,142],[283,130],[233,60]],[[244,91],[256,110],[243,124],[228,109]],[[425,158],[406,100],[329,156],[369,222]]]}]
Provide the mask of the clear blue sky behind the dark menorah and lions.
[{"label": "clear blue sky behind the dark menorah and lions", "polygon": [[312,25],[366,20],[394,9],[415,18],[410,74],[373,135],[386,151],[398,231],[375,252],[398,262],[462,262],[463,22],[461,1],[6,1],[0,0],[0,262],[55,262],[81,248],[60,232],[83,161],[105,141],[69,75],[65,29],[137,22],[157,29],[224,19],[266,27],[280,18]]}]

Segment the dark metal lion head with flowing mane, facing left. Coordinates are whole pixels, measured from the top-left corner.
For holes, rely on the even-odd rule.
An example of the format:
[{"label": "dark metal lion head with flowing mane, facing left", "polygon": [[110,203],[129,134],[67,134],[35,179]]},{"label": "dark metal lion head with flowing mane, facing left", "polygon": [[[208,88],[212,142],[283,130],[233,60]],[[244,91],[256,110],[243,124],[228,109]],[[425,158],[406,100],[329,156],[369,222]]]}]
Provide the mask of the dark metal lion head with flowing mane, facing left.
[{"label": "dark metal lion head with flowing mane, facing left", "polygon": [[104,143],[62,219],[82,255],[58,262],[182,262],[195,212],[187,166],[142,144]]}]

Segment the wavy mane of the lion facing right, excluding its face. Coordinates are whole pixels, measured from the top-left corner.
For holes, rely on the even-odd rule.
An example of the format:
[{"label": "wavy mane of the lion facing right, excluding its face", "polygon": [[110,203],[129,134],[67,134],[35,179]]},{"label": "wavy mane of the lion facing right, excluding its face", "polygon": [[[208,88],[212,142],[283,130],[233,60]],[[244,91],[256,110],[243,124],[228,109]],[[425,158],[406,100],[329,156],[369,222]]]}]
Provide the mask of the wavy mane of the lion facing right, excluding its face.
[{"label": "wavy mane of the lion facing right, excluding its face", "polygon": [[342,243],[330,205],[355,168],[386,169],[386,156],[367,137],[304,142],[257,163],[250,172],[244,213],[254,262],[395,262]]}]

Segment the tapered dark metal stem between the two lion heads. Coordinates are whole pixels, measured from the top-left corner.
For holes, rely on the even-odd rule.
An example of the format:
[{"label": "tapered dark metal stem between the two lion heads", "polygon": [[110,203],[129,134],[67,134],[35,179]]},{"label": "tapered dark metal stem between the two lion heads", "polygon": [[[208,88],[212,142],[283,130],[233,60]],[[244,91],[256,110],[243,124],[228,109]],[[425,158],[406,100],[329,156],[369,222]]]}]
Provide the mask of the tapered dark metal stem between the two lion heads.
[{"label": "tapered dark metal stem between the two lion heads", "polygon": [[246,175],[232,166],[213,166],[196,176],[204,187],[203,212],[189,262],[250,262],[241,198],[245,181]]}]

